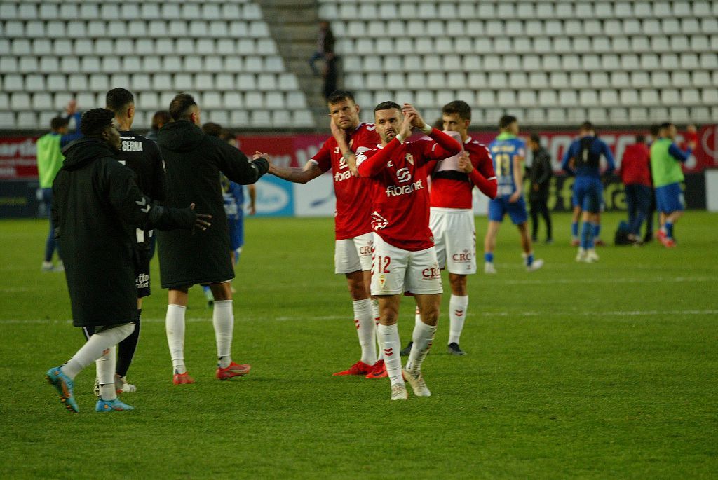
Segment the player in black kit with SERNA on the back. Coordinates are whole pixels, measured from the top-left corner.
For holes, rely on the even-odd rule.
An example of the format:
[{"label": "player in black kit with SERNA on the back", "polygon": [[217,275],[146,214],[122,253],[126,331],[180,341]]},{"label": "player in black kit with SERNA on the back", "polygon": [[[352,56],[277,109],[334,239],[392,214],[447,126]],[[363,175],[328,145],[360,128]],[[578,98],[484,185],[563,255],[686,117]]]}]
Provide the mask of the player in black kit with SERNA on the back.
[{"label": "player in black kit with SERNA on the back", "polygon": [[[154,200],[164,200],[164,166],[159,148],[154,141],[150,141],[134,131],[131,131],[134,121],[134,95],[124,88],[113,88],[106,95],[106,108],[115,114],[115,123],[120,131],[120,151],[118,160],[124,166],[134,171],[140,192]],[[127,382],[126,375],[134,357],[137,342],[139,342],[140,319],[142,314],[142,298],[149,296],[149,262],[154,248],[154,230],[134,229],[137,240],[137,255],[139,268],[135,283],[137,286],[137,320],[135,329],[129,337],[117,346],[117,366],[115,372],[115,388],[118,393],[134,392],[136,387]],[[85,337],[95,333],[92,327],[83,329]],[[101,385],[95,388],[99,394]]]}]

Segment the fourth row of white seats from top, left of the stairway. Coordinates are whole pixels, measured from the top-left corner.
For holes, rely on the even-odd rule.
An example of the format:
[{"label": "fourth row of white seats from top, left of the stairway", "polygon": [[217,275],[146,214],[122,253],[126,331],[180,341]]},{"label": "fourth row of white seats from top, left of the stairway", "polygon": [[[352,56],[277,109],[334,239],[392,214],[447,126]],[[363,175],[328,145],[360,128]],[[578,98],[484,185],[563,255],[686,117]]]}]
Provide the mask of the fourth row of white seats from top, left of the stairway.
[{"label": "fourth row of white seats from top, left of the stairway", "polygon": [[113,73],[113,72],[228,72],[281,73],[284,60],[268,57],[211,56],[127,56],[127,57],[0,57],[2,72],[39,73]]}]

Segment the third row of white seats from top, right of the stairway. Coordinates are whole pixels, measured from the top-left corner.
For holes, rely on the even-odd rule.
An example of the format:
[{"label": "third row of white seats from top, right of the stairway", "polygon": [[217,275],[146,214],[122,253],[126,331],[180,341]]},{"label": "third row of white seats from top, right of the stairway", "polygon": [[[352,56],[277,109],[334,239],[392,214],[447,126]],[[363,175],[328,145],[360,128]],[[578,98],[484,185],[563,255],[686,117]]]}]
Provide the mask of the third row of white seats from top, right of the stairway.
[{"label": "third row of white seats from top, right of the stairway", "polygon": [[[411,38],[343,38],[337,52],[355,55],[361,52],[411,53],[417,45],[424,50],[426,42]],[[628,52],[715,52],[718,34],[647,37],[454,37],[435,38],[434,49],[446,53],[628,53]]]}]

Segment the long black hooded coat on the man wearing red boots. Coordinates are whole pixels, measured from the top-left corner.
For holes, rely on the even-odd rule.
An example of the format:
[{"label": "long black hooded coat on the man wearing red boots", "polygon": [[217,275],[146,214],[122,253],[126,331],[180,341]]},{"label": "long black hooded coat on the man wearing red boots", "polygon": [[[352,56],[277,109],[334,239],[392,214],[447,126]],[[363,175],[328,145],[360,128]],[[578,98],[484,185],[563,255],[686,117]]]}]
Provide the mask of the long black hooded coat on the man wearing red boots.
[{"label": "long black hooded coat on the man wearing red boots", "polygon": [[269,170],[266,159],[249,161],[220,138],[205,135],[187,120],[167,123],[159,130],[159,150],[167,177],[167,207],[197,204],[197,212],[212,215],[205,231],[159,232],[159,273],[162,288],[217,283],[234,278],[229,232],[220,185],[220,171],[238,184],[253,184]]}]

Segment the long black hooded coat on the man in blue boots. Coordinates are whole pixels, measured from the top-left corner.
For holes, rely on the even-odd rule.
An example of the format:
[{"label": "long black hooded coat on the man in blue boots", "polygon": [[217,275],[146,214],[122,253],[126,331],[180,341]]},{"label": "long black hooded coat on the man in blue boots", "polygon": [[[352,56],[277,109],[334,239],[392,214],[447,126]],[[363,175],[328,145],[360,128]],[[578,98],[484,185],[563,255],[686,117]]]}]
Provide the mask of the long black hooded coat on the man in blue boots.
[{"label": "long black hooded coat on the man in blue boots", "polygon": [[[197,215],[169,209],[139,191],[135,174],[103,141],[70,143],[52,184],[52,216],[60,242],[75,326],[125,324],[137,315],[136,227],[192,229]],[[211,227],[210,227],[211,228]]]}]

